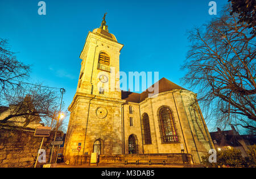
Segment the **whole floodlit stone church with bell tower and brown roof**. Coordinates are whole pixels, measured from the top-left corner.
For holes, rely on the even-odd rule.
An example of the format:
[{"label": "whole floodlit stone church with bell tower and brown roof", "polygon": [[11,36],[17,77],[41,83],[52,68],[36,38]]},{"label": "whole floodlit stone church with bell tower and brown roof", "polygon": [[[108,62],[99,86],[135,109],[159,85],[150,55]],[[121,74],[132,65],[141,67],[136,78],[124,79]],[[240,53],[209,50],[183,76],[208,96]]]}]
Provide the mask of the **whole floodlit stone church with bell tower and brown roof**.
[{"label": "whole floodlit stone church with bell tower and brown roof", "polygon": [[71,112],[64,158],[208,152],[214,148],[196,94],[162,78],[150,90],[119,89],[118,43],[106,26],[89,32]]}]

